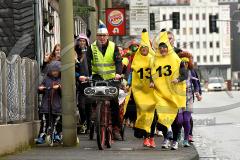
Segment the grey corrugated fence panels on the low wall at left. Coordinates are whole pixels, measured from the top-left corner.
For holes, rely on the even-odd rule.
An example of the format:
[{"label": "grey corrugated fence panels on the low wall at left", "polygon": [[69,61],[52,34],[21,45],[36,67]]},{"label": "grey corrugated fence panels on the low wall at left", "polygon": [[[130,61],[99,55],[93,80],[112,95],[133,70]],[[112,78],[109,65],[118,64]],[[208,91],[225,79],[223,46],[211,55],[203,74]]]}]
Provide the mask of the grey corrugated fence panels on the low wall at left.
[{"label": "grey corrugated fence panels on the low wall at left", "polygon": [[0,52],[0,124],[36,120],[39,70],[35,60]]}]

